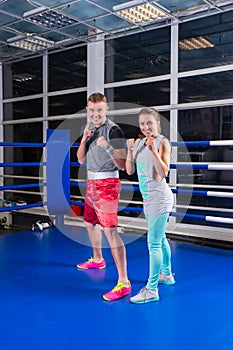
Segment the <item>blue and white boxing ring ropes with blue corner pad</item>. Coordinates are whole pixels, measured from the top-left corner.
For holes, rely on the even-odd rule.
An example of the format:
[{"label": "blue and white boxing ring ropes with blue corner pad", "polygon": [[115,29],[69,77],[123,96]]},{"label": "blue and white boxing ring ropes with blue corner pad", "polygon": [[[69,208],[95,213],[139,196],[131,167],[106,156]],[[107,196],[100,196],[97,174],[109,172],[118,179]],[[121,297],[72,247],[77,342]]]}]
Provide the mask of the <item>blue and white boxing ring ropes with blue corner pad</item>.
[{"label": "blue and white boxing ring ropes with blue corner pad", "polygon": [[[30,203],[25,205],[13,205],[11,207],[1,207],[0,215],[2,218],[2,213],[9,213],[12,211],[29,211],[29,209],[38,209],[40,207],[44,207],[49,216],[51,216],[55,222],[64,222],[64,217],[69,217],[71,213],[71,206],[82,207],[84,205],[83,199],[84,194],[82,196],[72,196],[71,188],[78,187],[79,189],[83,188],[85,190],[85,179],[71,179],[70,178],[70,167],[82,167],[78,162],[70,161],[70,149],[72,147],[77,148],[79,146],[78,143],[70,144],[69,141],[69,130],[47,130],[47,142],[46,143],[14,143],[14,142],[1,142],[1,147],[43,147],[46,151],[46,162],[10,162],[10,163],[0,163],[0,167],[39,167],[41,169],[40,173],[42,174],[42,181],[35,182],[30,184],[22,184],[22,185],[11,185],[11,186],[0,186],[1,191],[4,193],[5,191],[19,191],[28,188],[39,188],[42,190],[42,201],[37,203]],[[223,141],[192,141],[192,142],[172,142],[173,147],[200,147],[200,146],[208,146],[208,147],[226,147],[233,146],[233,140],[223,140]],[[84,165],[85,166],[85,165]],[[46,170],[45,170],[46,169]],[[233,171],[233,162],[232,163],[203,163],[203,162],[177,162],[172,163],[170,166],[170,171],[179,170],[182,171],[194,171],[194,170],[207,170],[207,171]],[[45,176],[45,177],[43,177]],[[169,184],[171,186],[172,192],[174,196],[199,196],[199,197],[216,197],[216,198],[225,198],[225,199],[233,199],[233,186],[218,186],[218,191],[204,190],[198,189],[195,190],[195,187],[211,187],[211,185],[202,185],[202,184]],[[181,188],[182,187],[182,188]],[[213,186],[216,188],[216,186]],[[191,189],[190,189],[191,188]],[[122,192],[139,192],[138,182],[125,181],[122,180]],[[23,192],[21,192],[23,193]],[[133,197],[133,194],[132,196]],[[78,199],[78,201],[76,200]],[[3,198],[4,200],[4,198]],[[131,204],[131,205],[130,205]],[[136,206],[132,206],[132,204]],[[126,208],[127,207],[127,208]],[[195,209],[196,211],[200,211],[200,214],[190,214],[187,213],[187,210]],[[127,230],[129,228],[132,229],[143,229],[146,230],[145,220],[142,217],[142,201],[141,200],[124,200],[120,199],[119,211],[126,211],[129,213],[128,217],[125,215],[119,216],[119,227],[122,230]],[[222,215],[214,216],[214,215],[205,215],[204,211],[218,211]],[[131,218],[131,214],[133,214],[133,219]],[[135,217],[135,215],[138,217]],[[141,217],[140,217],[141,216]],[[181,219],[199,220],[203,222],[210,223],[219,223],[227,225],[227,228],[224,230],[227,231],[227,236],[231,240],[232,237],[229,235],[229,229],[232,228],[233,217],[232,217],[232,207],[228,208],[202,208],[198,206],[188,206],[176,204],[174,211],[172,211],[171,218],[173,220],[169,221],[168,231],[172,233],[177,230],[177,221],[180,222]],[[72,222],[74,222],[74,218],[70,218]],[[81,220],[79,220],[80,222]],[[187,226],[187,227],[186,227]],[[188,224],[183,225],[183,227],[188,229]],[[191,226],[190,226],[191,227]],[[207,227],[208,231],[208,227]],[[176,231],[177,232],[177,231]],[[221,238],[221,237],[219,237]]]}]

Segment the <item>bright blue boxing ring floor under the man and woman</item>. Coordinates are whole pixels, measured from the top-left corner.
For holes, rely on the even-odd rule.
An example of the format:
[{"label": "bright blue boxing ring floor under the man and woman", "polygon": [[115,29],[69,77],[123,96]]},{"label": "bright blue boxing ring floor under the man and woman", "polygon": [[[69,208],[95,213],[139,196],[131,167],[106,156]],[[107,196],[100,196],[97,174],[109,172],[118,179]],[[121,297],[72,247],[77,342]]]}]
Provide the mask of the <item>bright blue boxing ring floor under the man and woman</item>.
[{"label": "bright blue boxing ring floor under the man and woman", "polygon": [[[159,288],[159,302],[107,302],[117,279],[110,250],[106,270],[80,271],[91,249],[76,238],[86,230],[68,230],[0,236],[2,349],[232,349],[233,251],[172,240],[177,283]],[[147,279],[146,238],[122,237],[134,295]]]}]

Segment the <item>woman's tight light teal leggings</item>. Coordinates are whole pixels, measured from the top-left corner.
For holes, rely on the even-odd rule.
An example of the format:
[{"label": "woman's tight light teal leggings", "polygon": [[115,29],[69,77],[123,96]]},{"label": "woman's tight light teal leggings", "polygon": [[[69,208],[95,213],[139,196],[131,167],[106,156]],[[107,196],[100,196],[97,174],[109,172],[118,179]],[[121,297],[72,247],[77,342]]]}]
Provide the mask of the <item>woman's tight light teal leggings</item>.
[{"label": "woman's tight light teal leggings", "polygon": [[171,249],[165,230],[169,213],[146,215],[148,224],[149,278],[146,287],[156,289],[160,272],[171,274]]}]

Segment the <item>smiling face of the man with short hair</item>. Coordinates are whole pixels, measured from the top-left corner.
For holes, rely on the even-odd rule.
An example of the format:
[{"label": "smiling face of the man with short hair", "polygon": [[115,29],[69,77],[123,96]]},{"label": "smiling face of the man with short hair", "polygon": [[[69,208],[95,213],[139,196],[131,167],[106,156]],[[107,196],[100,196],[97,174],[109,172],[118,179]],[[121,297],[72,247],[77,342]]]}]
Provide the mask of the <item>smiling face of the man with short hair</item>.
[{"label": "smiling face of the man with short hair", "polygon": [[90,121],[94,123],[96,128],[99,128],[106,122],[106,113],[108,111],[108,105],[105,102],[93,103],[88,101],[87,113],[90,117]]}]

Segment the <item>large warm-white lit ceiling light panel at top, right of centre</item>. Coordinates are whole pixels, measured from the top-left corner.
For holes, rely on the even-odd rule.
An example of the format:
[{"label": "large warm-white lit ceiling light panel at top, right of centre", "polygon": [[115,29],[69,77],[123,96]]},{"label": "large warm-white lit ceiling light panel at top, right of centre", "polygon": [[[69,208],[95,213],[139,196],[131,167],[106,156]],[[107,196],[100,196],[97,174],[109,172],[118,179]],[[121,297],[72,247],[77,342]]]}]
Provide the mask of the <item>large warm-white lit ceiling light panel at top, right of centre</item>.
[{"label": "large warm-white lit ceiling light panel at top, right of centre", "polygon": [[123,19],[135,24],[148,23],[162,19],[164,17],[168,17],[164,11],[149,3],[117,11],[116,14]]}]

